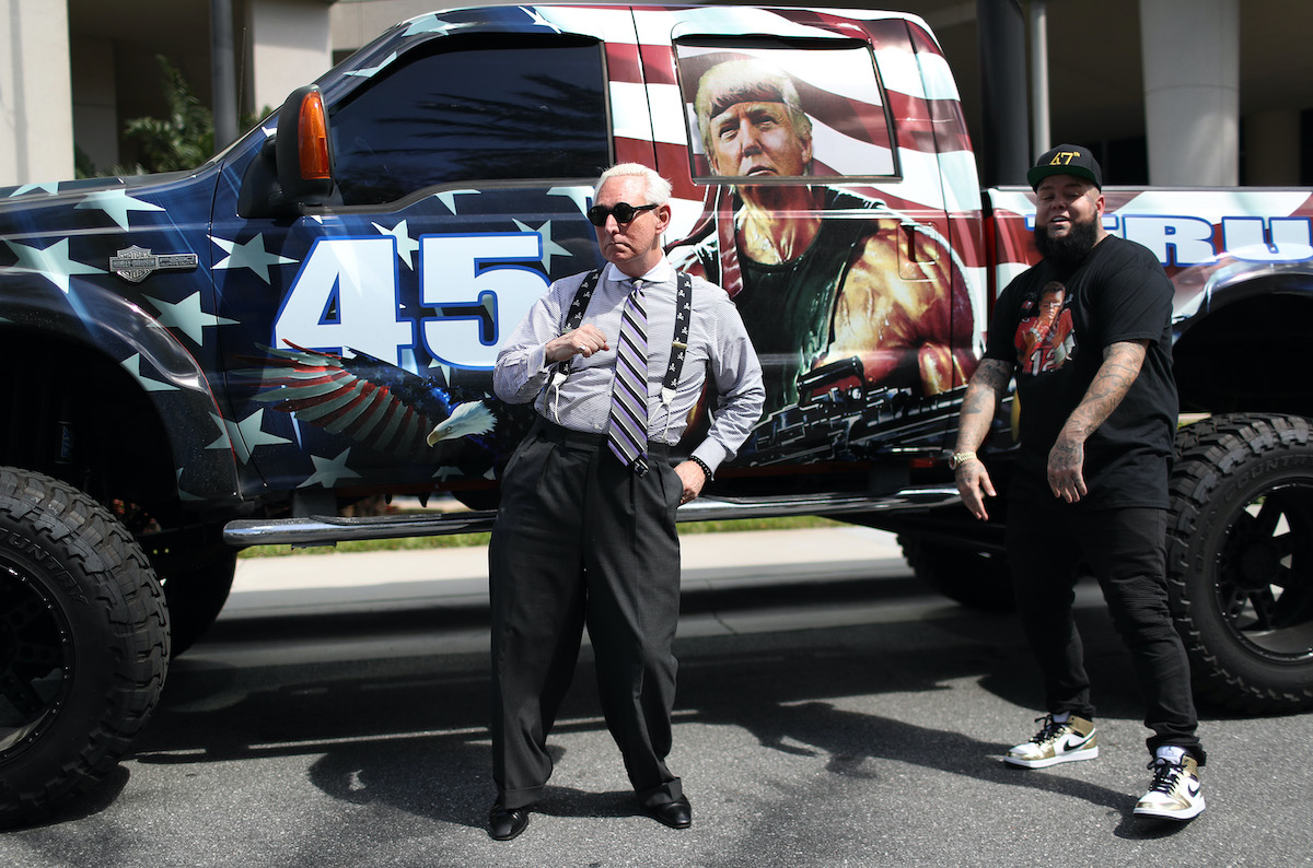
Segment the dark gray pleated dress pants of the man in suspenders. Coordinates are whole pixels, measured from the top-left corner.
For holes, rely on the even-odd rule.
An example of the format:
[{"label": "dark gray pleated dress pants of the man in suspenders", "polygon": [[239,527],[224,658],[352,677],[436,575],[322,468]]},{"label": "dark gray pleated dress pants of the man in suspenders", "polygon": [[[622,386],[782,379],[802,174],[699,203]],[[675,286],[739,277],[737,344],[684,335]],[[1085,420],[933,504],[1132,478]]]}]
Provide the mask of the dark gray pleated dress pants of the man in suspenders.
[{"label": "dark gray pleated dress pants of the man in suspenders", "polygon": [[635,476],[601,435],[540,420],[507,464],[488,547],[492,778],[508,809],[551,775],[546,738],[588,628],[603,715],[639,801],[683,795],[671,747],[683,486],[664,446]]}]

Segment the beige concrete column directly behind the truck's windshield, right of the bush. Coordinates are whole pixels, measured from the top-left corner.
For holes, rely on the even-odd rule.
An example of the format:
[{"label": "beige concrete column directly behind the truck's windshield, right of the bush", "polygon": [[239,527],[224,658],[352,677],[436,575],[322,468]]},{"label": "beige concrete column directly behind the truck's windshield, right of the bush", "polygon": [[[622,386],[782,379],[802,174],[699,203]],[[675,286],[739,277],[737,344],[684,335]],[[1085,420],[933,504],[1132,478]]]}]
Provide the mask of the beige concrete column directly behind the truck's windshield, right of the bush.
[{"label": "beige concrete column directly behind the truck's windshield, right of the bush", "polygon": [[253,105],[277,109],[289,93],[332,67],[330,7],[323,0],[252,0],[248,7]]}]

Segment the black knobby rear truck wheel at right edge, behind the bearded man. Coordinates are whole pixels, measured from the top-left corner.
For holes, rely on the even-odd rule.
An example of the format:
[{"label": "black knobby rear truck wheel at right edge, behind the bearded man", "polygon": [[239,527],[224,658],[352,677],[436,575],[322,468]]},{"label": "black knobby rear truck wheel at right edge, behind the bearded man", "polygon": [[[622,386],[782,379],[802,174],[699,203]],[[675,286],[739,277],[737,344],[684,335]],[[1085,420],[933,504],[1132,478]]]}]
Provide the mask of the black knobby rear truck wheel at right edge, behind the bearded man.
[{"label": "black knobby rear truck wheel at right edge, behind the bearded man", "polygon": [[1213,416],[1180,429],[1176,455],[1167,580],[1196,695],[1313,705],[1313,426]]}]

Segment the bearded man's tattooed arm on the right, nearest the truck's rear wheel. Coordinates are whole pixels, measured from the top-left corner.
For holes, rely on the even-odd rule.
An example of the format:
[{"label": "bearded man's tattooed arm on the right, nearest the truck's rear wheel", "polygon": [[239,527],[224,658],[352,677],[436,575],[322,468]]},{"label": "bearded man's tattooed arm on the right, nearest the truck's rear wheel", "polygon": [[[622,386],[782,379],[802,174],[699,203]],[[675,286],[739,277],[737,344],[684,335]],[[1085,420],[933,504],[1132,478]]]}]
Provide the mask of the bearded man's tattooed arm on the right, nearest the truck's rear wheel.
[{"label": "bearded man's tattooed arm on the right, nearest the truck's rear wheel", "polygon": [[1149,341],[1120,341],[1103,350],[1103,365],[1049,451],[1049,489],[1054,497],[1074,503],[1088,493],[1082,472],[1085,441],[1112,416],[1130,391],[1148,349]]}]

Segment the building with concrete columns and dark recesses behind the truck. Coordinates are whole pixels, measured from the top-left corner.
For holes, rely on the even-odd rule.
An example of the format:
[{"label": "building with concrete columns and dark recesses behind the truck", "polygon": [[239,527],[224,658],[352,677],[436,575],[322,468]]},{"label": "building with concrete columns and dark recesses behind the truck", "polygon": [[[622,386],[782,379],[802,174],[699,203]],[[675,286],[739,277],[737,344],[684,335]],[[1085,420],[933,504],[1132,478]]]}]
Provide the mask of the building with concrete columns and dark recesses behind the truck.
[{"label": "building with concrete columns and dark recesses behind the truck", "polygon": [[[259,117],[391,24],[437,5],[0,0],[0,47],[12,59],[0,64],[0,186],[71,178],[79,152],[97,173],[131,167],[135,146],[125,140],[123,123],[167,111],[158,56],[183,73],[204,105],[228,105],[217,97],[230,93],[236,114]],[[1306,0],[826,5],[880,5],[926,18],[944,43],[978,143],[979,21],[993,8],[1025,21],[1029,75],[1020,87],[1028,90],[1032,125],[1043,123],[1050,143],[1098,147],[1109,178],[1313,184]],[[217,39],[225,20],[231,37]],[[215,63],[223,58],[226,66]]]}]

